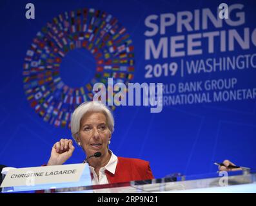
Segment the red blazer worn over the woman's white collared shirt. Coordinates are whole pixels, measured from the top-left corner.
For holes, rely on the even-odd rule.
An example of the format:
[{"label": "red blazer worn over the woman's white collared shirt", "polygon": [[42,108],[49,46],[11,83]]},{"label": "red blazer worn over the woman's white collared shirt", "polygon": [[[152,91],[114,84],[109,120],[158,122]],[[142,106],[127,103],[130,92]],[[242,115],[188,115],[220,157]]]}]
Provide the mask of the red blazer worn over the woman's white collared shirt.
[{"label": "red blazer worn over the woman's white collared shirt", "polygon": [[134,180],[152,180],[153,174],[149,162],[135,158],[117,157],[115,174],[105,170],[109,183],[130,182]]}]

